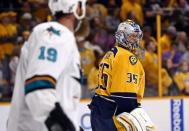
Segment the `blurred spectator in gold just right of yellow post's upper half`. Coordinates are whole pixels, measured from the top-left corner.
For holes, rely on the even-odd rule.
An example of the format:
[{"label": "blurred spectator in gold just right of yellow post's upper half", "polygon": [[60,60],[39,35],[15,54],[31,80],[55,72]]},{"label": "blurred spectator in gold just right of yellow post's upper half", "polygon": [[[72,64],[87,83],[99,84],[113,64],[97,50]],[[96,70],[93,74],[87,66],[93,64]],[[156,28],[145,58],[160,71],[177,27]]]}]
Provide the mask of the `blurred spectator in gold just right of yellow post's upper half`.
[{"label": "blurred spectator in gold just right of yellow post's upper half", "polygon": [[171,44],[173,43],[176,37],[176,34],[177,34],[176,28],[174,26],[170,26],[166,30],[166,32],[163,34],[163,36],[160,38],[160,45],[161,45],[162,53],[170,51]]}]

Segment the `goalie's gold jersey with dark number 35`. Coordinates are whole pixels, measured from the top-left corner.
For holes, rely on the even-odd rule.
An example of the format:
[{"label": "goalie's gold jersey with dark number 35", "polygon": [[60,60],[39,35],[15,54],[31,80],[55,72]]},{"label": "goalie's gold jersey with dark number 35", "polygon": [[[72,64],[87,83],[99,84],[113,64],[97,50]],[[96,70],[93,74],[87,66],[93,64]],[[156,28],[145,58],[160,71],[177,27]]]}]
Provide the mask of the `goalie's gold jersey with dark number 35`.
[{"label": "goalie's gold jersey with dark number 35", "polygon": [[142,64],[133,53],[119,46],[106,53],[99,67],[97,95],[136,100],[140,104],[144,85]]}]

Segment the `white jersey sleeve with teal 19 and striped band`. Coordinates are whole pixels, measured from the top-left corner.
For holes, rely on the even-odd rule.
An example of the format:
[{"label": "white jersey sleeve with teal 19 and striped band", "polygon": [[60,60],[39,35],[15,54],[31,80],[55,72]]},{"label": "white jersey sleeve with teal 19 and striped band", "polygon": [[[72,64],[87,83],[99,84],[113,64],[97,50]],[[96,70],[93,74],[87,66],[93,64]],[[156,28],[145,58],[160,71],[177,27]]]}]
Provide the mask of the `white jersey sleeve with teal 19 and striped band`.
[{"label": "white jersey sleeve with teal 19 and striped band", "polygon": [[25,99],[34,119],[45,121],[57,100],[56,83],[69,64],[69,44],[59,36],[31,34],[25,78]]}]

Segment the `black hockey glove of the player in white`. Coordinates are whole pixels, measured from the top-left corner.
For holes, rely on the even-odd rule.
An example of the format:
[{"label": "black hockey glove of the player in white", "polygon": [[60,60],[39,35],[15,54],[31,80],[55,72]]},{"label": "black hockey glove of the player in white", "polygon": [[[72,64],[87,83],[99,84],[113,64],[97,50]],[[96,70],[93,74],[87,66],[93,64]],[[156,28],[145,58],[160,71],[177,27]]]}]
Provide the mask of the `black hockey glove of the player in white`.
[{"label": "black hockey glove of the player in white", "polygon": [[55,108],[50,112],[45,124],[48,131],[75,131],[73,123],[66,116],[59,103],[55,104]]}]

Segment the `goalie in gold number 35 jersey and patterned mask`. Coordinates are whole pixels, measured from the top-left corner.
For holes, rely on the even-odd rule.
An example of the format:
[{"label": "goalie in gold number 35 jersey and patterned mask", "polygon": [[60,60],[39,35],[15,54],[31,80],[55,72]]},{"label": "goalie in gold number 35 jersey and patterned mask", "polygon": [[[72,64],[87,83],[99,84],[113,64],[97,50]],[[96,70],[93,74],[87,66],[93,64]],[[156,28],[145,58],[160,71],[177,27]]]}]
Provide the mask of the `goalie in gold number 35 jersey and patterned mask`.
[{"label": "goalie in gold number 35 jersey and patterned mask", "polygon": [[154,131],[141,107],[145,73],[140,63],[142,31],[134,21],[119,24],[116,46],[100,62],[98,88],[89,108],[93,131]]}]

